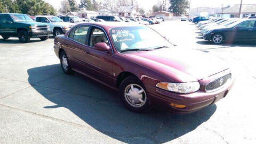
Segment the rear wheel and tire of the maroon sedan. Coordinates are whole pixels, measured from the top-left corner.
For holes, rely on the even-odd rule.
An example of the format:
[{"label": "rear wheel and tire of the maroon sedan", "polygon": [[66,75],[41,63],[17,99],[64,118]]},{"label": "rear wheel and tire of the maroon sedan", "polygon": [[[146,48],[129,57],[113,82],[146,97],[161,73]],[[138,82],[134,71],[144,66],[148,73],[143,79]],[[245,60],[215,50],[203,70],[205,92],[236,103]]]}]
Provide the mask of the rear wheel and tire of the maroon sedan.
[{"label": "rear wheel and tire of the maroon sedan", "polygon": [[[65,59],[66,59],[66,61],[65,61]],[[66,55],[66,53],[64,51],[62,51],[60,53],[60,65],[61,65],[61,69],[64,73],[66,73],[66,74],[73,73],[73,71],[71,70],[69,61],[68,61],[68,56]]]}]

